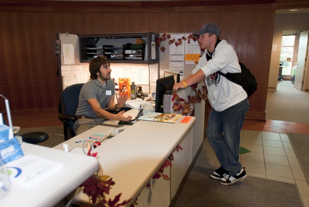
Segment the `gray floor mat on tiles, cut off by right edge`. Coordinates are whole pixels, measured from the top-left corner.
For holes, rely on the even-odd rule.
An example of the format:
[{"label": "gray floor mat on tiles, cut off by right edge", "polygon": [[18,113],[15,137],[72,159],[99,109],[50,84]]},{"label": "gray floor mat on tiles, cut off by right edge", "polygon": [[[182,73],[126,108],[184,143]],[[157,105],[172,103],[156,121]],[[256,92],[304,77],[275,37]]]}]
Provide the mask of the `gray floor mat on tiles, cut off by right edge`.
[{"label": "gray floor mat on tiles, cut off by right edge", "polygon": [[303,170],[307,182],[309,181],[309,135],[286,133],[290,139],[291,145],[294,149],[295,155],[298,159],[299,165]]}]

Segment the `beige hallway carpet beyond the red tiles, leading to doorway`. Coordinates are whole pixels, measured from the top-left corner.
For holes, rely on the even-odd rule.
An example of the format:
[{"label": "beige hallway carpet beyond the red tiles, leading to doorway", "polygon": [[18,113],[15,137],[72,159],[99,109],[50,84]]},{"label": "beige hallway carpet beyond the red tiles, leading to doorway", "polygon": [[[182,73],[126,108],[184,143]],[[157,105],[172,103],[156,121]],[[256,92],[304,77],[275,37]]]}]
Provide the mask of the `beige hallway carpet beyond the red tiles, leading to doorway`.
[{"label": "beige hallway carpet beyond the red tiles, leading to doorway", "polygon": [[290,81],[278,81],[277,90],[268,89],[266,119],[309,123],[309,93],[294,88]]}]

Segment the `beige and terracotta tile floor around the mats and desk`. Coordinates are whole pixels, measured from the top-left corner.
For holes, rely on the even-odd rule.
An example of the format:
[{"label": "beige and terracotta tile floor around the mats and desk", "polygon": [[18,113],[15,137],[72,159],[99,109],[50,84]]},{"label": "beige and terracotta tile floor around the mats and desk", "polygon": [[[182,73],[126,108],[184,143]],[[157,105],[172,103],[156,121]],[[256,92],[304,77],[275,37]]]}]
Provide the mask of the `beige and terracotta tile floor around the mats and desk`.
[{"label": "beige and terracotta tile floor around the mats and desk", "polygon": [[[13,117],[13,125],[21,127],[20,134],[35,131],[48,133],[49,139],[40,143],[42,146],[54,147],[64,141],[62,123],[57,115]],[[241,154],[240,162],[246,167],[249,176],[296,183],[304,206],[309,207],[309,186],[286,132],[309,134],[309,124],[245,120],[241,146],[251,152]],[[220,166],[207,139],[195,165],[210,168]]]}]

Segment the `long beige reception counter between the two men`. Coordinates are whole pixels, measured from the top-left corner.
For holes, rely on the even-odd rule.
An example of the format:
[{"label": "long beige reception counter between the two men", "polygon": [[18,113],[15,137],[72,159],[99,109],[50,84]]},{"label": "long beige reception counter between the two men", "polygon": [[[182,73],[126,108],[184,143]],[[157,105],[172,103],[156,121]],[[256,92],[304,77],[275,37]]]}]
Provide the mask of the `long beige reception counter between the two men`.
[{"label": "long beige reception counter between the two men", "polygon": [[[189,89],[181,90],[181,97],[191,93]],[[138,206],[173,206],[202,147],[204,109],[205,101],[197,104],[196,117],[189,117],[188,123],[181,123],[186,116],[181,116],[177,123],[140,120],[94,149],[92,152],[98,153],[104,175],[111,176],[115,182],[107,199],[113,200],[121,193],[119,203],[131,199],[127,206],[136,198]],[[81,147],[83,143],[75,141],[97,132],[111,132],[117,127],[99,125],[65,143],[69,145],[69,150]],[[178,145],[183,150],[176,152],[174,150]],[[63,150],[62,144],[54,149]],[[172,167],[165,168],[163,172],[171,179],[153,179],[171,153],[174,155]],[[146,187],[147,183],[150,187]],[[81,192],[73,201],[75,204],[84,202],[88,202],[88,197]]]}]

